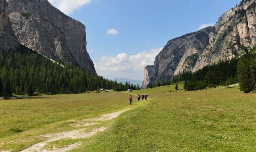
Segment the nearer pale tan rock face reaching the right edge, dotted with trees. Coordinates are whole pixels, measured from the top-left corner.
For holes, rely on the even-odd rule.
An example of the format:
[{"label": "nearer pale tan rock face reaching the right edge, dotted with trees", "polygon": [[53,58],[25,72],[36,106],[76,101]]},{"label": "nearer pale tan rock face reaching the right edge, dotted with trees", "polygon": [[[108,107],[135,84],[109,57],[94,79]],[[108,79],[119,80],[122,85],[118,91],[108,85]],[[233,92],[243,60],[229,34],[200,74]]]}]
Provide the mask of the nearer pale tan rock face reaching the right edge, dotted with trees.
[{"label": "nearer pale tan rock face reaching the right edge, dotted with trees", "polygon": [[198,58],[193,71],[242,53],[241,47],[256,44],[256,1],[243,0],[224,13],[215,24],[217,35]]}]

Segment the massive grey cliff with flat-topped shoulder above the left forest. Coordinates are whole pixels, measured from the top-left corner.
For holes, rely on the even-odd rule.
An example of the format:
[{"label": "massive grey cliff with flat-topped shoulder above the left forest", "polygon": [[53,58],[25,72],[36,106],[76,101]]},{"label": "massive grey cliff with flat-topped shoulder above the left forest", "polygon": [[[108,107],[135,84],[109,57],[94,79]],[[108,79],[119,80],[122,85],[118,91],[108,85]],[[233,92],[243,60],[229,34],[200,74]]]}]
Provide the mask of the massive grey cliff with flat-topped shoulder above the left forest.
[{"label": "massive grey cliff with flat-topped shoulder above the left forest", "polygon": [[53,60],[79,65],[96,74],[86,51],[85,26],[47,0],[7,0],[19,43]]}]

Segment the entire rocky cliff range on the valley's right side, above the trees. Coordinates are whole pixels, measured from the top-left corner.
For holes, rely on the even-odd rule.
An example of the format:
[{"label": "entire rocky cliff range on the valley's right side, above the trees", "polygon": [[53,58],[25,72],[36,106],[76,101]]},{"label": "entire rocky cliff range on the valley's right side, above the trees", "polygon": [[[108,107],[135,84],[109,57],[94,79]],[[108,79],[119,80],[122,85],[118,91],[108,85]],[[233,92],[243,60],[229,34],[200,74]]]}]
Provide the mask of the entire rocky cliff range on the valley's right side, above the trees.
[{"label": "entire rocky cliff range on the valley's right side, above the trees", "polygon": [[196,71],[220,60],[232,59],[242,53],[244,46],[254,47],[255,1],[241,1],[224,13],[213,27],[170,40],[156,56],[148,84],[170,80],[183,71]]}]

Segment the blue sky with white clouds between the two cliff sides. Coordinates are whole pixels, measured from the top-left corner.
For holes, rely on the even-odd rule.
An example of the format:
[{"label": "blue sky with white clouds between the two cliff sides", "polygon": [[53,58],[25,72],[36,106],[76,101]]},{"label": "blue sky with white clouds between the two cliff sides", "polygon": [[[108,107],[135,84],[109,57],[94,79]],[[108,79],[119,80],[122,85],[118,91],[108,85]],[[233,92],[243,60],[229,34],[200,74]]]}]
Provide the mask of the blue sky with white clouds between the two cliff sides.
[{"label": "blue sky with white clouds between the two cliff sides", "polygon": [[240,0],[49,0],[86,26],[97,74],[143,80],[173,38],[214,25]]}]

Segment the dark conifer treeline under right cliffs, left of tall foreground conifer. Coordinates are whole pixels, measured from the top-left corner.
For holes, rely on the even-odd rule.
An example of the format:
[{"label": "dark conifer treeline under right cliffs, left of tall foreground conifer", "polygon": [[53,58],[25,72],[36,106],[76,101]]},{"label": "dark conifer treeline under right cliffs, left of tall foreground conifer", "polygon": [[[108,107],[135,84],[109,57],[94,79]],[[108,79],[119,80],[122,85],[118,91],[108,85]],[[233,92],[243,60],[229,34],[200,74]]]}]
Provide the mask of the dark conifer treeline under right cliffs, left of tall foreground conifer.
[{"label": "dark conifer treeline under right cliffs, left of tall foreground conifer", "polygon": [[174,76],[171,80],[165,80],[163,83],[157,81],[155,86],[165,86],[180,81],[185,81],[185,90],[199,90],[206,87],[226,86],[237,83],[237,65],[238,59],[221,61],[214,65],[208,65],[196,72],[184,72]]}]

